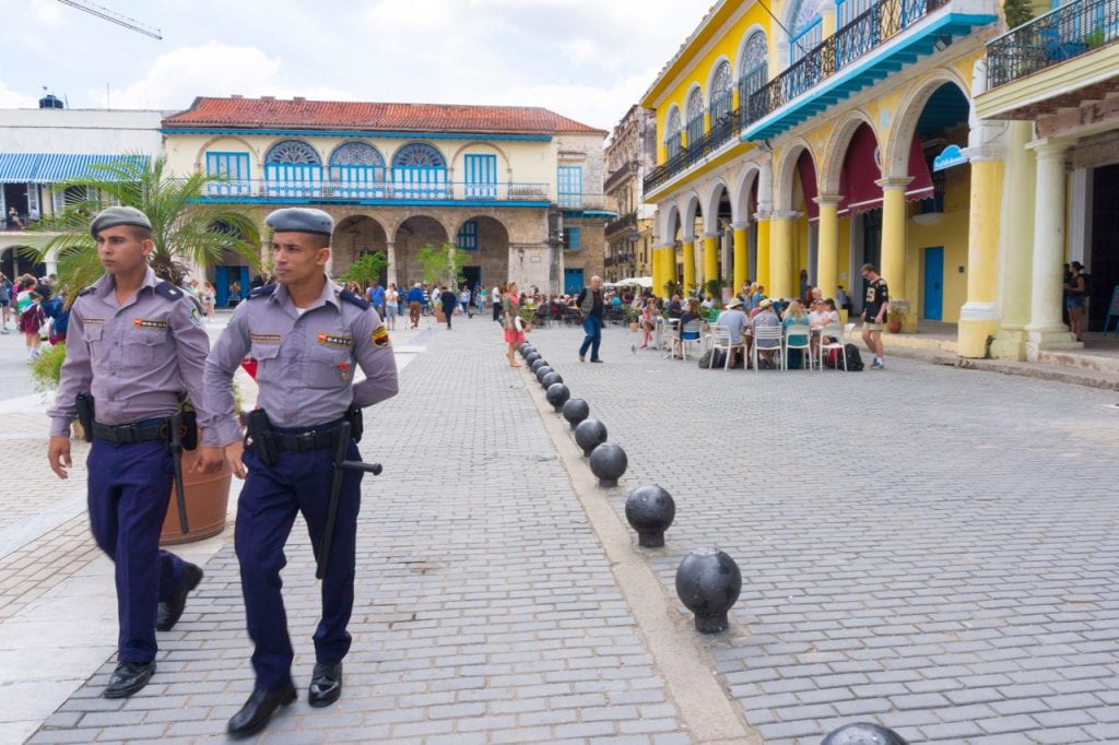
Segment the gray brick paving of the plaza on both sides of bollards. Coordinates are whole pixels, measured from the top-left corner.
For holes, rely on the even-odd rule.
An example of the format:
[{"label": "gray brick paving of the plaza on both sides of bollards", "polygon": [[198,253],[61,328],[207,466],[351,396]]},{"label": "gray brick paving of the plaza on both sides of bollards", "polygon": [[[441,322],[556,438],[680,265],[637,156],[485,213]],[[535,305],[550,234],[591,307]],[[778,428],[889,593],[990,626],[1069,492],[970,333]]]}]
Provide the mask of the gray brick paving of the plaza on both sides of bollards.
[{"label": "gray brick paving of the plaza on both sides of bollards", "polygon": [[[634,353],[614,328],[606,362],[581,365],[580,339],[533,333],[629,453],[620,487],[590,498],[621,515],[636,485],[673,492],[668,545],[640,549],[666,597],[687,550],[737,560],[731,631],[688,639],[765,743],[818,743],[852,720],[911,742],[1119,739],[1113,394],[894,358],[884,372],[698,370]],[[284,710],[262,739],[690,742],[579,506],[565,465],[585,464],[556,458],[496,327],[457,320],[416,343],[401,395],[367,418],[363,452],[385,473],[363,488],[347,690]],[[252,685],[225,544],[161,634],[152,685],[101,699],[110,654],[87,653],[88,679],[31,742],[224,730]],[[47,560],[37,550],[23,566]],[[284,577],[305,686],[318,600],[300,526]],[[111,593],[109,575],[77,572],[28,609],[79,582]]]}]

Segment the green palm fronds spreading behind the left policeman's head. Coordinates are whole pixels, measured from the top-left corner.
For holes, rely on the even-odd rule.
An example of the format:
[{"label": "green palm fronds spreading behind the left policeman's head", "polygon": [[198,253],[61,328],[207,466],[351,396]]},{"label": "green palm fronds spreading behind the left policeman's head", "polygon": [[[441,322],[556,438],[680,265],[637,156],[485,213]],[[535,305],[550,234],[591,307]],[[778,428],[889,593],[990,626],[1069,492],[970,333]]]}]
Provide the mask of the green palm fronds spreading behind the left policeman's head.
[{"label": "green palm fronds spreading behind the left policeman's head", "polygon": [[67,296],[88,286],[103,273],[97,247],[90,236],[90,220],[110,205],[135,207],[151,220],[152,270],[160,279],[181,285],[189,273],[181,260],[206,270],[219,263],[226,251],[260,267],[260,228],[237,205],[200,201],[206,188],[220,177],[191,173],[172,178],[162,155],[124,155],[90,167],[81,178],[58,188],[76,187],[60,214],[40,220],[37,229],[50,233],[38,242],[38,260],[56,252],[58,277]]}]

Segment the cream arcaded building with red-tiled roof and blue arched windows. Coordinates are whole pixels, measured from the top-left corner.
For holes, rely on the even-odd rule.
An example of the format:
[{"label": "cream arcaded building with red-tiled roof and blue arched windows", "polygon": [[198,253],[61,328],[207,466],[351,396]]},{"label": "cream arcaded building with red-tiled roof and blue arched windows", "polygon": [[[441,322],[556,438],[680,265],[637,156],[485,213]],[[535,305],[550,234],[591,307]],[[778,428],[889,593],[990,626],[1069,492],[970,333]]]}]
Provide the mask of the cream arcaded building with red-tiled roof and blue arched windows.
[{"label": "cream arcaded building with red-tiled roof and blue arched windows", "polygon": [[[366,252],[388,256],[385,280],[421,281],[417,252],[457,244],[467,281],[581,287],[602,271],[602,144],[606,132],[545,109],[197,98],[163,120],[173,173],[220,177],[207,200],[309,205],[335,218],[331,272]],[[231,258],[218,302],[247,286]]]}]

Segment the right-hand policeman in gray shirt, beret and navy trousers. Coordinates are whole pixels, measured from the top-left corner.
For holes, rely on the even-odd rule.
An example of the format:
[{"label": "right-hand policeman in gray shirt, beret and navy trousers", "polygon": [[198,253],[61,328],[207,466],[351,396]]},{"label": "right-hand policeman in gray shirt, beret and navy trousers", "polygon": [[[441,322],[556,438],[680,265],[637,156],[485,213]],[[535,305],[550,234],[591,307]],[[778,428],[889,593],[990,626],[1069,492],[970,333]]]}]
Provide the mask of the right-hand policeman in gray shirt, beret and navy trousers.
[{"label": "right-hand policeman in gray shirt, beret and navy trousers", "polygon": [[[295,700],[293,658],[280,570],[284,544],[302,512],[316,554],[322,545],[333,456],[344,422],[396,395],[396,362],[388,332],[367,302],[327,279],[333,219],[319,209],[269,215],[278,284],[257,287],[237,305],[206,361],[208,407],[234,472],[246,479],[237,507],[235,545],[241,562],[256,682],[231,720],[234,736],[260,732],[273,713]],[[233,374],[245,357],[257,361],[258,409],[244,447],[234,418]],[[366,375],[354,384],[355,367]],[[347,460],[359,461],[350,440]],[[246,477],[247,472],[247,477]],[[327,706],[342,688],[346,631],[354,607],[355,540],[361,474],[347,471],[338,498],[322,581],[322,617],[314,632],[316,666],[308,700]]]}]

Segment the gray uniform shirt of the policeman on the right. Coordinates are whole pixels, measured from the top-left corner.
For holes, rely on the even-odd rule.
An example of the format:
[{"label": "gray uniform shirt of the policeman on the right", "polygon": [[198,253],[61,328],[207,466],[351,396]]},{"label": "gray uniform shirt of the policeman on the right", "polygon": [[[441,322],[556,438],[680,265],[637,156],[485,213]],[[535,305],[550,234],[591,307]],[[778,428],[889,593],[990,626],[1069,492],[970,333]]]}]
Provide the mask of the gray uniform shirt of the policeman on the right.
[{"label": "gray uniform shirt of the policeman on the right", "polygon": [[[251,296],[206,360],[206,406],[217,412],[222,443],[241,438],[233,412],[233,374],[245,357],[257,361],[257,405],[278,427],[313,428],[396,395],[396,360],[388,332],[370,308],[339,298],[328,281],[302,313],[280,285]],[[354,366],[366,379],[354,385]]]}]

